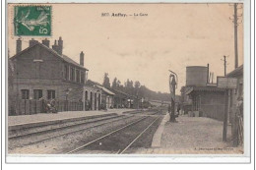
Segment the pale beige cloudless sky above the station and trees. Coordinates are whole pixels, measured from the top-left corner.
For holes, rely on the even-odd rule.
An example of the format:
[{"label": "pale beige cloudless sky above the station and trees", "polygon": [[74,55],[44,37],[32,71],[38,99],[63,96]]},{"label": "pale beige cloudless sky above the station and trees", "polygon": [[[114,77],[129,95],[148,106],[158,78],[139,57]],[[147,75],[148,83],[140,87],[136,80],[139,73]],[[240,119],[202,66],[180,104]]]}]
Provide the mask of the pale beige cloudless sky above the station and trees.
[{"label": "pale beige cloudless sky above the station and trees", "polygon": [[[233,7],[228,4],[48,4],[52,5],[52,36],[62,36],[63,53],[79,63],[85,53],[89,79],[122,84],[139,81],[152,90],[169,92],[168,70],[178,76],[178,93],[186,83],[187,66],[207,66],[224,76],[234,69]],[[128,17],[101,17],[122,13]],[[9,6],[9,51],[16,52],[13,6]],[[147,14],[137,16],[134,14]],[[242,14],[242,10],[238,11]],[[129,16],[131,15],[131,16]],[[22,36],[23,49],[31,36]],[[43,37],[44,38],[44,37]],[[41,41],[42,37],[34,37]],[[238,27],[238,65],[243,64],[243,26]]]}]

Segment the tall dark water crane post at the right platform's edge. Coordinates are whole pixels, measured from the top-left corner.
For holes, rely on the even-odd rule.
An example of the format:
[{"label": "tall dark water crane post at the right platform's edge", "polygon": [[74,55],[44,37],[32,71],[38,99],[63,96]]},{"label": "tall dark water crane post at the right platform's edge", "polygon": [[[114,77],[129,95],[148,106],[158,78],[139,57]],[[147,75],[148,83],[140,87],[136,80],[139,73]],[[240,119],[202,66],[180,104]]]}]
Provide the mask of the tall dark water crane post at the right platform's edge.
[{"label": "tall dark water crane post at the right platform's edge", "polygon": [[169,121],[170,122],[176,122],[176,116],[175,116],[175,89],[177,88],[177,74],[170,71],[169,75],[169,91],[170,91],[170,100],[171,100],[171,106],[168,108],[168,112],[170,112]]}]

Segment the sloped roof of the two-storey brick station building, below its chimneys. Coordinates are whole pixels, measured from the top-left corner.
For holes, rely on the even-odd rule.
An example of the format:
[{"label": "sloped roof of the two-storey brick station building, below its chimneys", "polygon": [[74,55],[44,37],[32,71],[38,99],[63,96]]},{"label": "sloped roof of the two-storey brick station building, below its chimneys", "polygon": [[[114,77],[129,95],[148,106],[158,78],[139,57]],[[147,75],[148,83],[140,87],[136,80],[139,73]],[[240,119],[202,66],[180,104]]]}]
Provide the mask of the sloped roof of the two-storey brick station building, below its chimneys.
[{"label": "sloped roof of the two-storey brick station building, below its chimneys", "polygon": [[63,60],[66,61],[67,63],[73,64],[73,65],[75,65],[75,66],[77,66],[77,67],[79,67],[79,68],[81,68],[81,69],[85,69],[85,70],[88,71],[87,68],[85,68],[84,66],[78,64],[77,62],[75,62],[74,60],[72,60],[70,57],[68,57],[68,56],[66,56],[66,55],[64,55],[64,54],[63,54],[63,55],[60,55],[59,53],[57,53],[57,52],[54,51],[53,49],[51,49],[51,48],[49,48],[49,47],[43,45],[43,44],[40,43],[40,42],[35,43],[35,44],[33,44],[32,46],[30,46],[30,47],[28,47],[28,48],[22,50],[21,52],[15,54],[15,55],[14,55],[13,57],[11,57],[11,58],[16,58],[16,57],[20,56],[21,54],[25,53],[26,51],[28,51],[28,50],[32,49],[33,47],[37,46],[37,45],[39,45],[39,46],[42,47],[42,48],[45,48],[46,50],[48,50],[49,52],[51,52],[51,53],[54,54],[55,56],[60,57],[61,59],[63,59]]}]

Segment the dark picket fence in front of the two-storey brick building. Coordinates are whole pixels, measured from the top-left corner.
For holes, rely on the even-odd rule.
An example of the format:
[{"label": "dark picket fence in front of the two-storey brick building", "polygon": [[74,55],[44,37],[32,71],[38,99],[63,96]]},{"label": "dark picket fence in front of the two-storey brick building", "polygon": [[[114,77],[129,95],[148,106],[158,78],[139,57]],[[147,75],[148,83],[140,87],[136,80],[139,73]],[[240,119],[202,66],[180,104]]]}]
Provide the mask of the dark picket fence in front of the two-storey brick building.
[{"label": "dark picket fence in front of the two-storey brick building", "polygon": [[[46,113],[46,104],[48,101],[23,99],[9,103],[9,115],[32,115],[36,113]],[[62,111],[82,111],[82,101],[56,100],[55,107],[58,112]]]}]

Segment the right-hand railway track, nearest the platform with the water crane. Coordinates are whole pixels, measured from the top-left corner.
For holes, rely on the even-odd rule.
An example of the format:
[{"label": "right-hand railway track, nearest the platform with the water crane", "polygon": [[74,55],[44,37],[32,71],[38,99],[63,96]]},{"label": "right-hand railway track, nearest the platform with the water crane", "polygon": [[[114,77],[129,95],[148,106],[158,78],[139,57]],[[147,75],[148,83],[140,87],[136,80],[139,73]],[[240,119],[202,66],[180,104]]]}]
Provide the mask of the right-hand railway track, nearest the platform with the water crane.
[{"label": "right-hand railway track, nearest the platform with the water crane", "polygon": [[111,131],[94,141],[84,143],[67,154],[87,153],[88,150],[109,150],[117,154],[123,154],[135,142],[137,142],[149,130],[161,116],[144,116],[121,128]]}]

